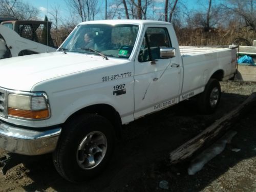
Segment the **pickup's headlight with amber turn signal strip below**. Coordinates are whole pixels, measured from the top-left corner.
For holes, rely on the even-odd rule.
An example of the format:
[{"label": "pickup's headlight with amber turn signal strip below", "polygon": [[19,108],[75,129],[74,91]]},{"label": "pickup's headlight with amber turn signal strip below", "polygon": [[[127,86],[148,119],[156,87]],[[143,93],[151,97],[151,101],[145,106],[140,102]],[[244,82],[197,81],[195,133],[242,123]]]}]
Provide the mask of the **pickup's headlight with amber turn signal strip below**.
[{"label": "pickup's headlight with amber turn signal strip below", "polygon": [[46,119],[50,116],[45,93],[11,93],[8,95],[8,115],[29,119]]}]

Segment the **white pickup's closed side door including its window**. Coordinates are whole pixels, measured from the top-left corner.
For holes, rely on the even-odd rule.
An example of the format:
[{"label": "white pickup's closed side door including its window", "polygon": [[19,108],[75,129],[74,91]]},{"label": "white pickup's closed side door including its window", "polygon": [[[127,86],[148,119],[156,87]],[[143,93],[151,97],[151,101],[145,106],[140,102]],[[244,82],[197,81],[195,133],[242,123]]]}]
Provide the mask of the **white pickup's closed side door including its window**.
[{"label": "white pickup's closed side door including its window", "polygon": [[172,47],[167,28],[148,26],[143,34],[134,67],[135,119],[177,103],[181,80],[179,58],[160,56]]}]

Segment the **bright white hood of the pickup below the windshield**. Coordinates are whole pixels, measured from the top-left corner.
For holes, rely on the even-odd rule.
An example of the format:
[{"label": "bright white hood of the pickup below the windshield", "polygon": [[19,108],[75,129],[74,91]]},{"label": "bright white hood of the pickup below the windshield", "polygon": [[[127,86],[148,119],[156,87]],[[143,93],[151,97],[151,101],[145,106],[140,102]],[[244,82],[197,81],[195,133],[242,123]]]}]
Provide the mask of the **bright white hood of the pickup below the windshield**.
[{"label": "bright white hood of the pickup below the windshield", "polygon": [[42,53],[29,56],[13,57],[0,60],[0,87],[30,91],[32,87],[44,80],[90,71],[115,63],[123,59],[103,59],[98,55],[63,52]]}]

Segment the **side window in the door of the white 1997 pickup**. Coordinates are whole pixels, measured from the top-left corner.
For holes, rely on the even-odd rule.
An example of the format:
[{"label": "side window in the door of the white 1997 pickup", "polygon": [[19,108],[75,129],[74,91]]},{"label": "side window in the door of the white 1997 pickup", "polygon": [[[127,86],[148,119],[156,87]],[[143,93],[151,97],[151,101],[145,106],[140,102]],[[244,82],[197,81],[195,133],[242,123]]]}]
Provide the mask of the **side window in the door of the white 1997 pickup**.
[{"label": "side window in the door of the white 1997 pickup", "polygon": [[139,53],[139,62],[162,59],[160,48],[170,48],[171,42],[166,28],[147,28]]}]

